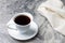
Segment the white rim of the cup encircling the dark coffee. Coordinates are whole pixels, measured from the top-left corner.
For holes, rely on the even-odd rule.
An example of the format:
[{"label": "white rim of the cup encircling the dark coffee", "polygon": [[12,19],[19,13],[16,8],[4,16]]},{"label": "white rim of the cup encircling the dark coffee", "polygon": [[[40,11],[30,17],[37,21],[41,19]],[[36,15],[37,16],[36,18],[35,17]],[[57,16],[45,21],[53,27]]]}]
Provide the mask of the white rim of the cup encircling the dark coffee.
[{"label": "white rim of the cup encircling the dark coffee", "polygon": [[15,25],[21,26],[21,27],[26,27],[26,26],[30,25],[30,23],[32,22],[32,15],[31,15],[30,13],[26,13],[26,12],[24,12],[24,13],[17,13],[17,14],[13,17],[13,20],[14,20],[17,16],[20,16],[20,15],[28,16],[28,17],[30,18],[30,22],[29,22],[27,25],[18,25],[18,24],[16,24],[16,23],[14,22]]}]

